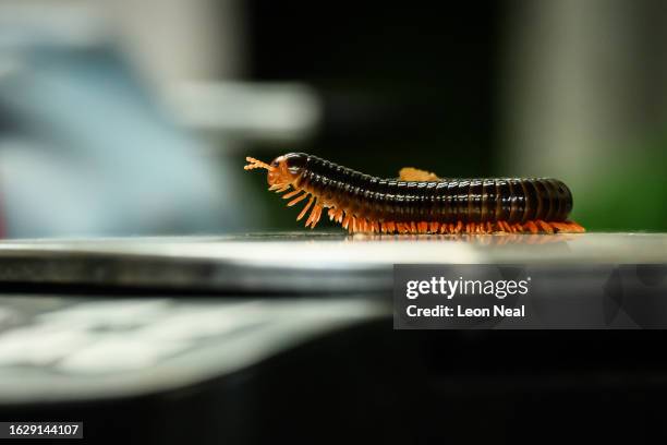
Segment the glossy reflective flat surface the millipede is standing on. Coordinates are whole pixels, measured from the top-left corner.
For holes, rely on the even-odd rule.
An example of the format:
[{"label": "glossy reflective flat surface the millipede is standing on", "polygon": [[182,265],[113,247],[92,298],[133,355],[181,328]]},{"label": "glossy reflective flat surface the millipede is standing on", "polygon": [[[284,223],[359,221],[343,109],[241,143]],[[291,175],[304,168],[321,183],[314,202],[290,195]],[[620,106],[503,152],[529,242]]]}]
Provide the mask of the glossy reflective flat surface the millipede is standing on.
[{"label": "glossy reflective flat surface the millipede is standing on", "polygon": [[0,280],[260,293],[383,293],[397,263],[665,263],[667,234],[366,236],[299,231],[225,237],[16,240]]}]

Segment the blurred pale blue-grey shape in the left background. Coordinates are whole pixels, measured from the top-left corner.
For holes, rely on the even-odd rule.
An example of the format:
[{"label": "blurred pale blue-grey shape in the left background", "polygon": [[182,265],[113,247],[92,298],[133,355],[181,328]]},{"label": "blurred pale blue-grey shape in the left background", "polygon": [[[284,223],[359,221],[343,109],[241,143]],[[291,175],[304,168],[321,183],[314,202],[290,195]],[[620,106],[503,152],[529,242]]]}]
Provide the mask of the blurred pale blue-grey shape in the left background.
[{"label": "blurred pale blue-grey shape in the left background", "polygon": [[17,62],[0,76],[9,237],[243,226],[237,172],[173,125],[112,48],[32,45],[2,59]]}]

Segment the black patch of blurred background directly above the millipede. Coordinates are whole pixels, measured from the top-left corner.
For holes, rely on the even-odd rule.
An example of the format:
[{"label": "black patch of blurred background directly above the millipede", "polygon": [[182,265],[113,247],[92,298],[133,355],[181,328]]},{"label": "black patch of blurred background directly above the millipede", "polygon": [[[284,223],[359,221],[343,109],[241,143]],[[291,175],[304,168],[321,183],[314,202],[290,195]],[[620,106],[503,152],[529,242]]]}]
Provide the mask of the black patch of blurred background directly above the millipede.
[{"label": "black patch of blurred background directly above the millipede", "polygon": [[[304,149],[378,175],[452,161],[463,175],[492,172],[501,8],[251,4],[252,77],[320,92],[322,129]],[[480,156],[462,156],[471,152]]]}]

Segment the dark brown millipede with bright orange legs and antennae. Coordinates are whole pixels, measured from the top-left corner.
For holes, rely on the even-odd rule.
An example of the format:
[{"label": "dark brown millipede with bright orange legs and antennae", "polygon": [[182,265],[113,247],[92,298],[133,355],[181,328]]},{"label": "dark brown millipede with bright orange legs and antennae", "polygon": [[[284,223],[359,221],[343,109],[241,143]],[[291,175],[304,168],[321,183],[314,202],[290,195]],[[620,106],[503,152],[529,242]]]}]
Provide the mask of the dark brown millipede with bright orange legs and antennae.
[{"label": "dark brown millipede with bright orange legs and antennae", "polygon": [[572,193],[557,179],[442,179],[412,167],[396,179],[380,179],[305,153],[271,164],[245,159],[245,170],[267,170],[269,190],[284,193],[289,207],[305,201],[296,220],[307,214],[305,226],[312,229],[326,208],[350,233],[585,231],[568,220]]}]

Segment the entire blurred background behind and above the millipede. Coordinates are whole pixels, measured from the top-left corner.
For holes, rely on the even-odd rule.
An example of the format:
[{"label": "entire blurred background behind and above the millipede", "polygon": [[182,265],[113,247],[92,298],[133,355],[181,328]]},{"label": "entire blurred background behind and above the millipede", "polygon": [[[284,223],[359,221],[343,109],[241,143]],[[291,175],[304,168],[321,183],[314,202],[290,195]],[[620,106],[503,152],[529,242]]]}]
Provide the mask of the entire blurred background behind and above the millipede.
[{"label": "entire blurred background behind and above the millipede", "polygon": [[590,230],[667,229],[659,1],[0,1],[7,237],[296,229],[243,175],[550,176]]}]

